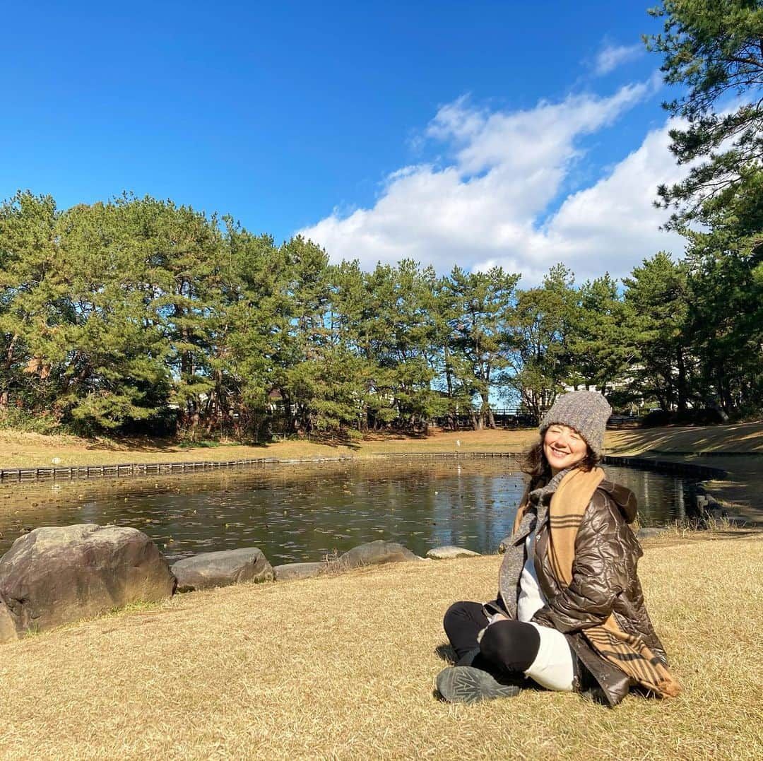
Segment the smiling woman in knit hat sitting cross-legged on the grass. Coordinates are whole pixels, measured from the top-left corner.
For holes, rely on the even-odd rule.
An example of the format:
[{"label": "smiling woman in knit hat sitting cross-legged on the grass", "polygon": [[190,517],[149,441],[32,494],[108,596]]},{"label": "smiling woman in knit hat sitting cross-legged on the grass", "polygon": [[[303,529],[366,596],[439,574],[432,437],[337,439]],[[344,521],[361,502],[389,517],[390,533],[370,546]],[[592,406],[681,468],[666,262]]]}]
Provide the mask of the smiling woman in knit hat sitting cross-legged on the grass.
[{"label": "smiling woman in knit hat sitting cross-legged on the grass", "polygon": [[596,466],[611,411],[602,395],[575,391],[543,418],[498,598],[445,614],[457,657],[437,676],[446,701],[511,697],[524,679],[608,705],[637,685],[678,695],[636,575],[636,498]]}]

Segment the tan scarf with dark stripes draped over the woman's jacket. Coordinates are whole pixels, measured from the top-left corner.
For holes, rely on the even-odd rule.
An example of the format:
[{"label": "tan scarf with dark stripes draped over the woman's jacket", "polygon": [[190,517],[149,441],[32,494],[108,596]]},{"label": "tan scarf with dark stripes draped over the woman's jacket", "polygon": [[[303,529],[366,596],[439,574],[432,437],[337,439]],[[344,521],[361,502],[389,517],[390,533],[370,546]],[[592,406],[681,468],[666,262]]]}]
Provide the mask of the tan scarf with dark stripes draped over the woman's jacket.
[{"label": "tan scarf with dark stripes draped over the woman's jacket", "polygon": [[[574,469],[564,476],[552,495],[549,507],[549,561],[556,582],[561,588],[568,587],[572,581],[575,537],[578,535],[585,509],[602,480],[604,471],[600,468],[588,472]],[[520,506],[521,513],[525,509],[526,504]],[[582,630],[582,634],[602,658],[636,679],[636,682],[645,688],[663,698],[673,698],[681,691],[681,686],[673,679],[662,661],[646,647],[642,638],[626,634],[617,625],[613,614],[610,614],[604,624],[588,627]]]}]

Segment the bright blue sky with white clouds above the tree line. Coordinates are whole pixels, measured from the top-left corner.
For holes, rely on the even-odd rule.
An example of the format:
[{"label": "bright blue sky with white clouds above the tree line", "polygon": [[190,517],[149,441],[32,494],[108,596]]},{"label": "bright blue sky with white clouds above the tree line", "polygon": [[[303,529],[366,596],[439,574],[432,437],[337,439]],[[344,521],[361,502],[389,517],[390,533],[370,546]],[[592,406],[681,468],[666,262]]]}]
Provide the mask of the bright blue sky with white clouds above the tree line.
[{"label": "bright blue sky with white clouds above the tree line", "polygon": [[648,5],[15,4],[0,198],[127,190],[364,266],[622,276],[680,253]]}]

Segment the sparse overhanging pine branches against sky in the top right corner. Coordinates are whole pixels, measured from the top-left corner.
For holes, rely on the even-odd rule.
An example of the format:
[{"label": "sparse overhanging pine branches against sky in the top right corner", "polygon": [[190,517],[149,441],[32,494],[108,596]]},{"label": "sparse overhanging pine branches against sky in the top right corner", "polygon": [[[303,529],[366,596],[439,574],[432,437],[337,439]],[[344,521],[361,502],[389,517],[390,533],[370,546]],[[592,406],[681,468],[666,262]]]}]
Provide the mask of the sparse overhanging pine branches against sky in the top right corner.
[{"label": "sparse overhanging pine branches against sky in the top right corner", "polygon": [[[666,206],[678,208],[671,224],[681,228],[749,193],[760,169],[763,3],[664,0],[650,13],[664,18],[665,28],[647,47],[664,55],[665,82],[682,87],[665,108],[687,121],[671,131],[671,150],[678,163],[693,163],[691,171],[658,190]],[[726,108],[718,112],[719,105]]]}]

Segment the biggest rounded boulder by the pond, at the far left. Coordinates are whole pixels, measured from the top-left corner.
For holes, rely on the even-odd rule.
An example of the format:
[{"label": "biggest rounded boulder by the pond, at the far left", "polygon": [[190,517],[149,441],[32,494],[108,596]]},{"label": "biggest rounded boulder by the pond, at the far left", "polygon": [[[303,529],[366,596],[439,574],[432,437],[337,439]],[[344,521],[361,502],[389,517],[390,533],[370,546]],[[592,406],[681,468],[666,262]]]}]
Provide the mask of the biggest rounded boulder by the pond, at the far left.
[{"label": "biggest rounded boulder by the pond, at the far left", "polygon": [[157,602],[174,591],[166,559],[135,528],[36,528],[0,559],[0,601],[20,634]]}]

